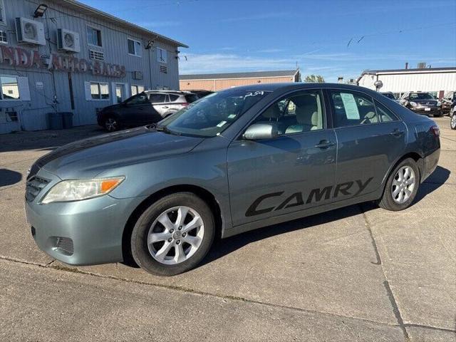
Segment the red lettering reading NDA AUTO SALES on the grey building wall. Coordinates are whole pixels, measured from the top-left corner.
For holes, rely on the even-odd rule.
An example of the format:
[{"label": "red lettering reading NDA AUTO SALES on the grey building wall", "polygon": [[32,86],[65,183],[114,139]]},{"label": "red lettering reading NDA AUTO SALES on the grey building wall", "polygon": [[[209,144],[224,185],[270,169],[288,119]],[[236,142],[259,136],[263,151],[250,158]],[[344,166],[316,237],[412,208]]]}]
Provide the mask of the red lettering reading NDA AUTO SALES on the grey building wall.
[{"label": "red lettering reading NDA AUTO SALES on the grey building wall", "polygon": [[60,53],[41,56],[39,51],[26,50],[19,46],[0,46],[0,63],[21,68],[38,68],[49,71],[92,73],[95,76],[125,77],[125,66],[88,61]]}]

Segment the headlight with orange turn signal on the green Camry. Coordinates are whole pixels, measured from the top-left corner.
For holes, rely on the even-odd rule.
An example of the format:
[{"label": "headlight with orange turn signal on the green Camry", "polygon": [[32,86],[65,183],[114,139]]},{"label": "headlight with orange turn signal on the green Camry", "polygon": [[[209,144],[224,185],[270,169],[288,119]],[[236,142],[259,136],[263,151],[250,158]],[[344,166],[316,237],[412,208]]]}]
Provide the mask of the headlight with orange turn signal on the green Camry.
[{"label": "headlight with orange turn signal on the green Camry", "polygon": [[54,185],[41,203],[81,201],[108,194],[125,177],[95,178],[93,180],[63,180]]}]

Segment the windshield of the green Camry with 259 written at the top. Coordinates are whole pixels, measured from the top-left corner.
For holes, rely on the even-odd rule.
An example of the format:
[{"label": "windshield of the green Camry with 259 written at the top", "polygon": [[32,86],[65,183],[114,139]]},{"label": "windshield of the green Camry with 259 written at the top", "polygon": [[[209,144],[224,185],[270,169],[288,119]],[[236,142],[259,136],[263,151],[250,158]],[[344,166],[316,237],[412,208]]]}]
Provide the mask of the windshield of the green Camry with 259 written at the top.
[{"label": "windshield of the green Camry with 259 written at the top", "polygon": [[157,129],[177,134],[214,137],[269,93],[263,90],[240,89],[212,93],[162,120]]}]

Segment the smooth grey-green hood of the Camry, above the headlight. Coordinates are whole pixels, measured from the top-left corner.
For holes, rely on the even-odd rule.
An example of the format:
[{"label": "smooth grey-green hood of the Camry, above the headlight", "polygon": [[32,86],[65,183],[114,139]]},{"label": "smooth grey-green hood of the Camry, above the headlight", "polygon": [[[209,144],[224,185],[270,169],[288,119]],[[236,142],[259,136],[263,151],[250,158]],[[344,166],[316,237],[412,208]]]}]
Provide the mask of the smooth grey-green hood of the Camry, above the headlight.
[{"label": "smooth grey-green hood of the Camry, above the headlight", "polygon": [[91,178],[110,168],[190,152],[202,140],[145,127],[99,135],[44,155],[33,164],[28,178],[41,168],[61,179]]}]

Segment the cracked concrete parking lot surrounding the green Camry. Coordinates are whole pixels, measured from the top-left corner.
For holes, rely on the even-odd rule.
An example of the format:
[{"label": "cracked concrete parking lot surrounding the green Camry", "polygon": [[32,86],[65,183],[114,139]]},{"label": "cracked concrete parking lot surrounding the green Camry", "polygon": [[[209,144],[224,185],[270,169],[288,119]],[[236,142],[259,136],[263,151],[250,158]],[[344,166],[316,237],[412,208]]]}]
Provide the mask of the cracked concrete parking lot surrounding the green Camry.
[{"label": "cracked concrete parking lot surrounding the green Camry", "polygon": [[35,246],[26,170],[95,126],[0,135],[1,341],[456,341],[456,131],[412,207],[356,205],[232,237],[197,269],[73,268]]}]

